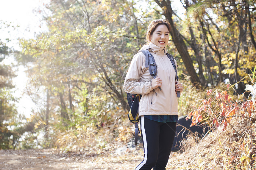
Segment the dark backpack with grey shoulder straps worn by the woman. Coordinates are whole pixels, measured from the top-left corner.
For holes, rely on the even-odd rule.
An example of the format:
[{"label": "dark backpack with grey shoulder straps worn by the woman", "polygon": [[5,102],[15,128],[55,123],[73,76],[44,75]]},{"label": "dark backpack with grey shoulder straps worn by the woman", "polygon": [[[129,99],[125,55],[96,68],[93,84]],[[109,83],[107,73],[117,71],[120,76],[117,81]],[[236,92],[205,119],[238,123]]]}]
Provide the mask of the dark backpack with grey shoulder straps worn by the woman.
[{"label": "dark backpack with grey shoulder straps worn by the woman", "polygon": [[[154,60],[154,56],[149,52],[147,49],[141,50],[143,54],[146,57],[145,67],[149,68],[149,73],[151,76],[156,78],[157,75],[157,65]],[[175,80],[178,81],[179,76],[177,76],[177,69],[174,62],[174,58],[171,54],[166,53],[167,57],[171,60],[171,63],[175,70]],[[159,87],[160,90],[161,87]],[[128,114],[129,121],[132,122],[135,125],[135,142],[134,146],[138,144],[138,134],[140,134],[140,130],[138,127],[139,119],[139,102],[141,100],[142,94],[132,94],[132,93],[126,93],[127,94],[127,101],[130,107],[130,111]],[[157,94],[156,94],[157,95]],[[177,92],[177,97],[179,97],[179,92]]]}]

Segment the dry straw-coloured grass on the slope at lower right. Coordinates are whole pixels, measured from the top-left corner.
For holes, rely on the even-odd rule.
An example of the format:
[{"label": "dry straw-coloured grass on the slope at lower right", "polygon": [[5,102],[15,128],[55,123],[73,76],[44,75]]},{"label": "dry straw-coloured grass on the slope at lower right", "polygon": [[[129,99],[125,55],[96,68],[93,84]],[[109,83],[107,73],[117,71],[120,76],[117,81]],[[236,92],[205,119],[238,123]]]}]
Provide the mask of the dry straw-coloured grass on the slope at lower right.
[{"label": "dry straw-coloured grass on the slope at lower right", "polygon": [[192,135],[183,142],[182,153],[171,153],[168,170],[253,170],[256,151],[256,122],[236,118],[231,122],[241,137],[231,126],[226,130],[220,126],[205,138],[196,139]]}]

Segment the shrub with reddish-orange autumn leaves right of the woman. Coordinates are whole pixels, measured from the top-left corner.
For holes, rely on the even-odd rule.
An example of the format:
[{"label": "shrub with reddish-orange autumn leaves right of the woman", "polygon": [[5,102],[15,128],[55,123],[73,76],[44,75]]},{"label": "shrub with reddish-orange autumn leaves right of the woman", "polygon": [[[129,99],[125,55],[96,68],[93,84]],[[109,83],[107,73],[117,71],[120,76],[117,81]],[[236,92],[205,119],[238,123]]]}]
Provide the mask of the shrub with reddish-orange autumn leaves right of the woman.
[{"label": "shrub with reddish-orange autumn leaves right of the woman", "polygon": [[[229,89],[230,85],[227,85]],[[186,119],[192,118],[192,124],[197,125],[201,121],[206,121],[209,126],[217,128],[223,124],[223,130],[227,128],[230,121],[234,117],[243,117],[252,119],[254,116],[256,104],[254,100],[241,101],[237,100],[228,93],[227,90],[219,91],[218,89],[207,90],[207,99],[202,100],[202,104],[198,108],[194,108]],[[237,96],[235,96],[237,97]],[[230,124],[230,126],[232,126]],[[235,130],[235,129],[234,129]],[[236,130],[235,130],[236,131]]]}]

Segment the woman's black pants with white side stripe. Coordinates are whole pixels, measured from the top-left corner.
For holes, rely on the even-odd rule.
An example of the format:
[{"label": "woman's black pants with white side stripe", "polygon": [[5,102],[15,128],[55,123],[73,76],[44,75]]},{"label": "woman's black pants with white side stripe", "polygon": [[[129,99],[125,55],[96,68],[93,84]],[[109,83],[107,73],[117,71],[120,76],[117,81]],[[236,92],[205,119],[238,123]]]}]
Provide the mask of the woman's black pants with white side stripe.
[{"label": "woman's black pants with white side stripe", "polygon": [[176,122],[161,123],[140,117],[144,160],[135,170],[165,170],[173,144]]}]

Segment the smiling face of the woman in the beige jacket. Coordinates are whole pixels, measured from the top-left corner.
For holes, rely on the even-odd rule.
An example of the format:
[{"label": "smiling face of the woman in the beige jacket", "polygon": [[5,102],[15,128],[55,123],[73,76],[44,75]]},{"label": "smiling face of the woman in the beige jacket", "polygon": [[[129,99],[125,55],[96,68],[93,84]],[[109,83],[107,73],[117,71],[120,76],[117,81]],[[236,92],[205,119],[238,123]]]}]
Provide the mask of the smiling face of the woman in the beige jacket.
[{"label": "smiling face of the woman in the beige jacket", "polygon": [[161,48],[164,48],[169,41],[169,30],[166,25],[158,25],[152,33],[151,42]]}]

